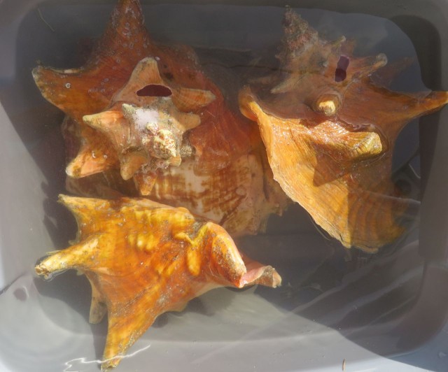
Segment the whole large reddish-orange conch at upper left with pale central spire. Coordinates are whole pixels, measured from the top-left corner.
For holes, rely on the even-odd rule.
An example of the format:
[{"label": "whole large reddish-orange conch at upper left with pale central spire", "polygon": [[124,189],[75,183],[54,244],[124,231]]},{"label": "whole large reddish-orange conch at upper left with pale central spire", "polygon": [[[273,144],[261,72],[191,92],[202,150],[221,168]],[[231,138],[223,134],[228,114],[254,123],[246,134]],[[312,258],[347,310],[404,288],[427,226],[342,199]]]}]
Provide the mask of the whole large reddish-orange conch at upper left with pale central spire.
[{"label": "whole large reddish-orange conch at upper left with pale central spire", "polygon": [[[191,48],[151,40],[139,1],[118,2],[82,68],[39,66],[33,75],[45,99],[67,114],[70,192],[149,196],[186,206],[232,234],[255,234],[270,213],[286,207],[287,198],[265,161],[258,127],[230,110]],[[162,87],[169,96],[139,96],[147,85]],[[169,108],[164,126],[158,123],[145,138],[161,144],[156,150],[144,151],[144,133],[134,131],[123,112],[123,107],[141,111],[146,106],[160,113]],[[161,132],[167,140],[160,141]]]}]

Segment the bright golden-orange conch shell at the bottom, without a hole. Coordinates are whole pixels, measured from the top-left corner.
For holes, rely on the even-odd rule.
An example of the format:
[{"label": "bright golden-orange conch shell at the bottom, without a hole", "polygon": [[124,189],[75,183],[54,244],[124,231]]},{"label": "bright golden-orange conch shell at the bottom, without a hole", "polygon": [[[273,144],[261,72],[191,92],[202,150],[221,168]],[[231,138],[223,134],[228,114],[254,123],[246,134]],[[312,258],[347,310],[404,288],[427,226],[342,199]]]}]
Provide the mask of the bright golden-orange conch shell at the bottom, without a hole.
[{"label": "bright golden-orange conch shell at the bottom, without a hole", "polygon": [[271,266],[244,257],[225,229],[147,199],[60,196],[78,222],[76,242],[36,266],[36,272],[77,269],[92,285],[90,322],[108,315],[102,371],[166,311],[216,287],[267,285],[281,278]]}]

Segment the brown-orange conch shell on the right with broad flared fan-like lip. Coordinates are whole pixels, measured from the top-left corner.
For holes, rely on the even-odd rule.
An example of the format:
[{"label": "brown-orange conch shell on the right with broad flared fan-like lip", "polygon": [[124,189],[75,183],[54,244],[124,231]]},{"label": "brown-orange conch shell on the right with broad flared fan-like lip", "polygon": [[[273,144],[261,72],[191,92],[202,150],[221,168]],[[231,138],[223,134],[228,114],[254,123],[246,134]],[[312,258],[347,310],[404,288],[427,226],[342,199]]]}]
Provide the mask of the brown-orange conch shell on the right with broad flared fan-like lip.
[{"label": "brown-orange conch shell on the right with broad flared fan-like lip", "polygon": [[376,85],[385,55],[354,57],[353,43],[325,41],[292,10],[284,31],[281,69],[241,91],[241,112],[258,122],[286,194],[345,247],[374,252],[405,230],[398,220],[410,201],[391,182],[395,139],[448,94]]}]

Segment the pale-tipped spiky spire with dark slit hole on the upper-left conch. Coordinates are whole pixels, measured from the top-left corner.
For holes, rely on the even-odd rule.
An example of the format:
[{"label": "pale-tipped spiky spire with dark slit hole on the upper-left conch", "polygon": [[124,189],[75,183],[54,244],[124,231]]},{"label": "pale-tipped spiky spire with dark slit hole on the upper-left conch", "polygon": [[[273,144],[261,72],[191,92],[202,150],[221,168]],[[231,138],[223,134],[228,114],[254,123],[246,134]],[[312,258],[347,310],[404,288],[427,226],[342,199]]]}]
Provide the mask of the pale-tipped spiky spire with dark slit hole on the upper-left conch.
[{"label": "pale-tipped spiky spire with dark slit hole on the upper-left conch", "polygon": [[[142,96],[142,90],[149,92]],[[159,168],[181,164],[182,147],[188,147],[183,134],[201,122],[200,115],[193,111],[214,99],[214,94],[207,90],[165,82],[157,61],[147,57],[137,64],[125,87],[113,96],[111,108],[85,115],[83,120],[109,138],[120,159],[123,179],[143,173],[137,176],[137,184],[142,194],[148,194]],[[183,150],[186,155],[192,151]],[[139,182],[151,176],[152,182]]]}]

